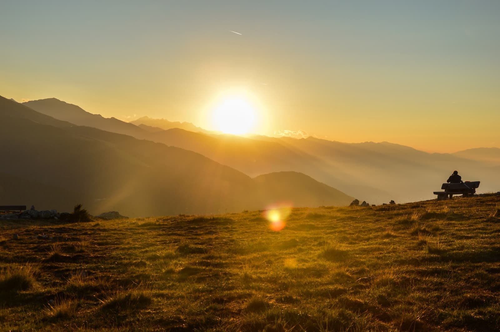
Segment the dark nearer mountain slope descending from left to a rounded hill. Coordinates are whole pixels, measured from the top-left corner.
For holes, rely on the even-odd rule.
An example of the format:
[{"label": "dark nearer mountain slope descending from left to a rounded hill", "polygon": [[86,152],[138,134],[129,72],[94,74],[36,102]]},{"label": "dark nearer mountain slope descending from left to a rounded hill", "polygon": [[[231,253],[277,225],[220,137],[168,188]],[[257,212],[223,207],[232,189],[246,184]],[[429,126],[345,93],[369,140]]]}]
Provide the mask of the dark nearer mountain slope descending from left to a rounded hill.
[{"label": "dark nearer mountain slope descending from left to a rounded hill", "polygon": [[[261,209],[283,200],[346,205],[353,199],[300,173],[252,179],[192,151],[78,126],[3,97],[0,153],[0,201],[37,209],[69,211],[81,203],[94,214],[145,216]],[[309,195],[279,192],[279,183]]]}]

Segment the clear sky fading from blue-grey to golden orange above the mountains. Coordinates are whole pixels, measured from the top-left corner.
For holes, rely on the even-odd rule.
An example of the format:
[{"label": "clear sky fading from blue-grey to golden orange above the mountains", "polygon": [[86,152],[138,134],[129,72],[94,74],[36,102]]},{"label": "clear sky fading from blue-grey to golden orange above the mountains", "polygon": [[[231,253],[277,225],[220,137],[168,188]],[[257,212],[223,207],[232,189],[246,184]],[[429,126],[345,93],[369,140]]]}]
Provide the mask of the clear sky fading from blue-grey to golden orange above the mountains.
[{"label": "clear sky fading from blue-grey to golden orange above the mountains", "polygon": [[[500,147],[500,1],[0,3],[0,95],[258,134]],[[231,32],[235,31],[235,32]]]}]

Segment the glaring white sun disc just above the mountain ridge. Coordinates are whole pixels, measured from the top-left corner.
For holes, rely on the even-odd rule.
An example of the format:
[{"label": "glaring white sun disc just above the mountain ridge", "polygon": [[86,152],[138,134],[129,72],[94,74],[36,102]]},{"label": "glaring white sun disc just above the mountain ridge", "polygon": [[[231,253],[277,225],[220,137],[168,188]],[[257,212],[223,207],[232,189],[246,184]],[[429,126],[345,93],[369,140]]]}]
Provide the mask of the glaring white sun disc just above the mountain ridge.
[{"label": "glaring white sun disc just above the mountain ridge", "polygon": [[226,98],[213,110],[213,124],[224,133],[242,135],[253,129],[255,110],[244,98]]}]

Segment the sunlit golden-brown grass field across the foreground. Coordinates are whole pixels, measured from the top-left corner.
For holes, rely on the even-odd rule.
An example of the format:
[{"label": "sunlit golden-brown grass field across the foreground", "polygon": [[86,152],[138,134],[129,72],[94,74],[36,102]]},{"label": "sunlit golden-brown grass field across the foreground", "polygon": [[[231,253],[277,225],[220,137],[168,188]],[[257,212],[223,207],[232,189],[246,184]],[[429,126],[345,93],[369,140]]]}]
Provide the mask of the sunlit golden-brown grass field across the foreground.
[{"label": "sunlit golden-brown grass field across the foreground", "polygon": [[2,221],[0,331],[499,331],[499,208]]}]

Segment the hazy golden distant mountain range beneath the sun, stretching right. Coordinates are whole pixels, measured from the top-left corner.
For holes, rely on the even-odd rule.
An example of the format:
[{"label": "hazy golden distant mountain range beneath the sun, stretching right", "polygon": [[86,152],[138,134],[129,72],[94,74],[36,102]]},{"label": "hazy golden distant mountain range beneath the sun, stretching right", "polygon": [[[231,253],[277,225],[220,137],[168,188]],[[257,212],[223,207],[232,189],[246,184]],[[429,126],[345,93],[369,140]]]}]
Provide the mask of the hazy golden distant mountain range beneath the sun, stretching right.
[{"label": "hazy golden distant mountain range beneath the sun, stretching right", "polygon": [[[59,107],[70,105],[59,103]],[[36,109],[54,117],[60,116],[42,108]],[[71,109],[66,107],[65,113],[70,112]],[[59,119],[69,121],[62,116]],[[139,123],[136,127],[142,130],[129,133],[136,138],[197,152],[250,177],[281,171],[303,173],[374,204],[391,199],[408,202],[433,198],[432,192],[439,189],[440,184],[455,169],[464,180],[481,181],[481,192],[496,192],[500,187],[497,170],[492,167],[500,165],[495,164],[495,153],[500,150],[495,148],[430,154],[388,142],[342,143],[313,137],[296,139],[258,135],[245,138],[213,133],[208,135],[182,128],[161,130],[174,122],[147,117],[141,119],[151,121],[134,121]],[[75,124],[86,125],[77,122],[77,119],[72,120]],[[162,121],[165,123],[163,128],[160,127]],[[100,128],[124,133],[111,126]],[[196,127],[193,130],[198,129]]]}]

